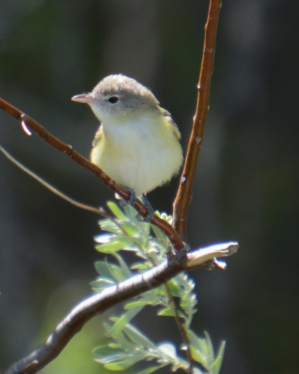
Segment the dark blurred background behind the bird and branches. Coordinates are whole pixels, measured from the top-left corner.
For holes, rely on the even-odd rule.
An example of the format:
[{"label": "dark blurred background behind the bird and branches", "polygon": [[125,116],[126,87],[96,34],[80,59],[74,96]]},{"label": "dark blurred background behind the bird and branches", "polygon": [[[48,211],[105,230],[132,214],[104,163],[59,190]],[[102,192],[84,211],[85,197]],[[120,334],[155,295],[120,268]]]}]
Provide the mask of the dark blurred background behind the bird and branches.
[{"label": "dark blurred background behind the bird and branches", "polygon": [[[0,96],[88,157],[97,120],[71,102],[111,73],[148,86],[187,148],[208,1],[0,0]],[[198,162],[188,239],[192,248],[237,240],[226,271],[190,273],[193,328],[217,347],[221,373],[298,373],[298,2],[225,0],[210,111]],[[296,14],[297,13],[297,14]],[[71,197],[105,205],[113,194],[92,174],[28,137],[0,112],[0,143]],[[98,217],[53,195],[0,154],[0,370],[43,343],[92,293]],[[178,179],[149,194],[172,211]],[[41,373],[99,373],[90,321]],[[146,309],[136,325],[179,344],[170,318]],[[154,324],[155,329],[149,326]],[[169,373],[170,368],[163,373]]]}]

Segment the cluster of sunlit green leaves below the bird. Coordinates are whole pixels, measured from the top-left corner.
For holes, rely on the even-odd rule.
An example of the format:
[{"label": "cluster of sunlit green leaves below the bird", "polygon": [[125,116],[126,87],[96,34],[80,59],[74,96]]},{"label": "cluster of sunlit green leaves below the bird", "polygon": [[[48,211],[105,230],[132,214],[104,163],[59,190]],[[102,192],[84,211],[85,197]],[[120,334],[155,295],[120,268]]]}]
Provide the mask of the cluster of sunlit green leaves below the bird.
[{"label": "cluster of sunlit green leaves below the bird", "polygon": [[[169,250],[169,239],[166,234],[156,226],[139,222],[136,219],[137,212],[132,206],[125,206],[124,212],[114,202],[108,203],[108,206],[116,218],[115,220],[105,218],[101,221],[101,227],[106,233],[97,236],[96,242],[98,242],[97,249],[100,252],[114,257],[114,263],[103,261],[97,263],[96,269],[100,277],[92,282],[92,287],[96,291],[128,279],[132,276],[131,269],[136,269],[142,274],[150,267],[161,264],[167,260],[166,253]],[[157,212],[157,215],[167,222],[172,222],[172,217],[165,213]],[[128,266],[121,256],[123,253],[121,251],[133,252],[139,261]],[[161,308],[158,312],[159,316],[174,317],[178,313],[179,317],[184,319],[183,323],[188,329],[192,316],[196,312],[195,283],[187,273],[180,273],[168,281],[167,286],[168,288],[161,285],[128,301],[124,306],[126,312],[122,316],[112,316],[109,324],[104,322],[106,336],[110,337],[110,341],[107,346],[98,347],[95,355],[96,360],[102,362],[105,368],[117,371],[130,368],[130,374],[150,374],[170,364],[173,371],[179,368],[187,370],[188,362],[177,356],[173,344],[163,343],[157,346],[129,323],[145,305],[158,305]],[[177,312],[173,310],[172,299],[167,289],[172,297],[177,298],[175,302],[179,303],[182,310],[178,309]],[[218,374],[223,359],[224,342],[221,343],[215,358],[212,341],[207,333],[204,338],[201,338],[188,329],[187,335],[194,361],[203,365],[209,374]],[[158,364],[142,370],[132,367],[143,359],[155,360]],[[203,374],[205,372],[194,367],[193,373]]]}]

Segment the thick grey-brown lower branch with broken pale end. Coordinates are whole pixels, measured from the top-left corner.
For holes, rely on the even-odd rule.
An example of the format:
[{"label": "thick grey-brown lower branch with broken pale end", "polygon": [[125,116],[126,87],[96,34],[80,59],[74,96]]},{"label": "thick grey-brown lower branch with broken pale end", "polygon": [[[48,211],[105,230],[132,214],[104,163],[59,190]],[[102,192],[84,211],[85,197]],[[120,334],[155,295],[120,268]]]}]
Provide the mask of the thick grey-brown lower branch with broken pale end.
[{"label": "thick grey-brown lower branch with broken pale end", "polygon": [[230,256],[237,252],[237,249],[238,243],[231,242],[197,249],[184,255],[179,253],[142,275],[134,276],[117,286],[105,289],[100,294],[90,296],[71,310],[43,345],[13,364],[4,374],[37,373],[55,359],[71,338],[95,315],[105,312],[121,301],[162,285],[184,270],[193,270],[206,261],[215,260],[216,257]]}]

